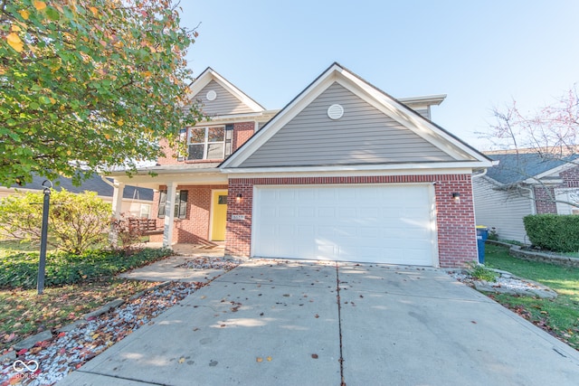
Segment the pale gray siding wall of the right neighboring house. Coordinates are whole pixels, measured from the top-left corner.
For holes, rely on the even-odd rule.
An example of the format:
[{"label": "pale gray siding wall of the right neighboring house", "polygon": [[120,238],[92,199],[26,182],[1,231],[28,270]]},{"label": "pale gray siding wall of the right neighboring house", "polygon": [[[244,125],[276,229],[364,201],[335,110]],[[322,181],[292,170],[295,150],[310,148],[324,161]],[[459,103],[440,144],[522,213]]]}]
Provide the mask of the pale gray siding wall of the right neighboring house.
[{"label": "pale gray siding wall of the right neighboring house", "polygon": [[523,217],[531,214],[529,193],[493,189],[497,184],[486,177],[473,179],[472,187],[477,225],[495,227],[499,239],[528,243]]}]

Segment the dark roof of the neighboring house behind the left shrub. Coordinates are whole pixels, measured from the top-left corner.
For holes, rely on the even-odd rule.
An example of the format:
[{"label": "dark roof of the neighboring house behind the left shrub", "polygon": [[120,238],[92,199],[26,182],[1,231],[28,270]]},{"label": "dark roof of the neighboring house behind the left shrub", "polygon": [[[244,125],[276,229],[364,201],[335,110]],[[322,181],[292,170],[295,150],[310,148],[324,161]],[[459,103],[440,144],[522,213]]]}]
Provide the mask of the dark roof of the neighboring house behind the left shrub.
[{"label": "dark roof of the neighboring house behind the left shrub", "polygon": [[[43,177],[33,175],[32,183],[24,184],[23,186],[13,185],[12,188],[43,191],[44,189],[43,182],[45,180],[46,179]],[[109,179],[109,181],[112,183],[112,179]],[[100,178],[100,175],[98,174],[95,174],[88,180],[83,181],[81,186],[73,185],[72,180],[70,178],[65,177],[60,177],[58,180],[52,181],[52,184],[54,185],[53,186],[54,189],[57,191],[61,191],[62,189],[71,193],[83,193],[85,191],[90,191],[96,192],[98,195],[104,197],[112,197],[114,191],[113,187],[102,181],[102,178]],[[123,191],[123,198],[153,201],[153,190],[126,185]]]}]

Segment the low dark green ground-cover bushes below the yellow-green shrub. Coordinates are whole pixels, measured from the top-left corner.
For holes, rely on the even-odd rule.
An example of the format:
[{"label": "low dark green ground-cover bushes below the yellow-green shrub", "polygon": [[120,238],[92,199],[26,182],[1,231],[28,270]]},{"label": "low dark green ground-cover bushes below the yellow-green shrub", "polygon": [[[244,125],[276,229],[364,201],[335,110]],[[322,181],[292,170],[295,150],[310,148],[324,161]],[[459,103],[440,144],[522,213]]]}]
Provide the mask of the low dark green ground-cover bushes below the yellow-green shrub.
[{"label": "low dark green ground-cover bushes below the yellow-green shrub", "polygon": [[[81,255],[56,251],[46,254],[46,287],[58,287],[85,280],[106,278],[171,254],[171,249],[143,249],[131,256],[110,250],[91,250]],[[16,253],[0,258],[1,288],[34,288],[38,277],[39,253]]]}]

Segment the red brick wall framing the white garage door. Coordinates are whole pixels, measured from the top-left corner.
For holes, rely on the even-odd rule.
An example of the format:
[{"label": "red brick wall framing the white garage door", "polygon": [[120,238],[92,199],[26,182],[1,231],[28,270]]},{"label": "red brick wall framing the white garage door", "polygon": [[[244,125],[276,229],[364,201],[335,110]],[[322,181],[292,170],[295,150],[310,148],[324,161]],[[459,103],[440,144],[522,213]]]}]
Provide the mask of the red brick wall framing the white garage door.
[{"label": "red brick wall framing the white garage door", "polygon": [[[229,180],[225,253],[250,256],[252,240],[252,193],[255,184],[401,184],[435,183],[439,259],[441,267],[460,267],[477,259],[477,240],[469,174],[394,175],[360,177],[233,178]],[[234,202],[237,194],[240,202]],[[460,202],[452,199],[460,193]],[[243,214],[232,221],[232,214]]]}]

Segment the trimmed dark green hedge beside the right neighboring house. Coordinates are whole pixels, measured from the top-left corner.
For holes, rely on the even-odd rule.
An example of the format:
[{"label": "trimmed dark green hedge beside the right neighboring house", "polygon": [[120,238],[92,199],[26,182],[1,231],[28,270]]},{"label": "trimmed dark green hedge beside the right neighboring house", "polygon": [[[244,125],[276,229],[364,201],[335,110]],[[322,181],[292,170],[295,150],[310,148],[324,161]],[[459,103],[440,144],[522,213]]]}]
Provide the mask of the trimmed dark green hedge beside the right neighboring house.
[{"label": "trimmed dark green hedge beside the right neighboring house", "polygon": [[531,214],[523,218],[523,222],[534,246],[555,252],[579,250],[579,216]]}]

